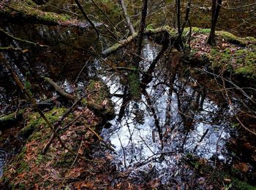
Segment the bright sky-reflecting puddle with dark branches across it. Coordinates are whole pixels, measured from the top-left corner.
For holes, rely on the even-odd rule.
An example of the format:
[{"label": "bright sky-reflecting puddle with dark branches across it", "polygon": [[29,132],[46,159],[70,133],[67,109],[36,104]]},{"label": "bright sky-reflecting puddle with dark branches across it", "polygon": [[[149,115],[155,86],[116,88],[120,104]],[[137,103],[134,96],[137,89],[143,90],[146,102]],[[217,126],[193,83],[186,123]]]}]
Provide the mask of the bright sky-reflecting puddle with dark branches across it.
[{"label": "bright sky-reflecting puddle with dark branches across it", "polygon": [[[147,68],[148,60],[157,56],[157,47],[148,43],[143,54],[147,61],[141,64]],[[178,68],[170,73],[172,68],[160,68],[140,100],[129,101],[121,117],[123,98],[113,96],[117,116],[102,137],[116,150],[113,157],[119,170],[132,169],[131,178],[140,181],[145,180],[141,173],[147,173],[148,180],[158,178],[167,183],[174,175],[184,175],[187,169],[181,162],[189,154],[227,161],[225,143],[230,138],[230,123],[225,118],[230,116],[230,108],[219,106],[214,94],[206,94],[205,87],[187,71]],[[118,76],[103,79],[112,94],[125,93]]]}]

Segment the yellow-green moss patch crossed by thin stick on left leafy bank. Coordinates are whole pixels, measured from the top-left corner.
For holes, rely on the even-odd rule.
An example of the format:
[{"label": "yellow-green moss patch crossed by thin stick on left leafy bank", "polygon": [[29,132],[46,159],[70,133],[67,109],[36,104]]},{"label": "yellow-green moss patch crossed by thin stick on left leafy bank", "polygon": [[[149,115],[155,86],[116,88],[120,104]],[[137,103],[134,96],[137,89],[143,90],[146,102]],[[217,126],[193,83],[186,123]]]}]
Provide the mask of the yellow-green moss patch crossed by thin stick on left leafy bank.
[{"label": "yellow-green moss patch crossed by thin stick on left leafy bank", "polygon": [[[54,122],[58,121],[59,117],[62,116],[65,111],[66,108],[53,108],[51,111],[48,111],[45,116],[48,118],[49,122],[53,124]],[[20,130],[20,136],[23,138],[29,138],[32,132],[34,132],[34,130],[42,125],[48,127],[44,119],[42,119],[38,113],[31,114],[29,116],[28,122],[26,123],[26,126]],[[38,139],[39,135],[40,133],[37,132],[35,134],[35,138]]]}]

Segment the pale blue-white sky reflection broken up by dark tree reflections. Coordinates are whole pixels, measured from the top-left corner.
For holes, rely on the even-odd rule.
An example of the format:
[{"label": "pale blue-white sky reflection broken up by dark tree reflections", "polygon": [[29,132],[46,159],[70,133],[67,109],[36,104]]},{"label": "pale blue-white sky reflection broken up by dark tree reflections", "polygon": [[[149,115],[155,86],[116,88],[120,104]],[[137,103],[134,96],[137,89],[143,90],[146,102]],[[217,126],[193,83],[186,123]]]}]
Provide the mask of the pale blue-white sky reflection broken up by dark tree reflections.
[{"label": "pale blue-white sky reflection broken up by dark tree reflections", "polygon": [[[148,44],[146,45],[146,49],[143,50],[144,56],[148,60],[153,60],[156,56],[153,55],[153,52],[154,50],[152,50]],[[149,55],[146,55],[146,53]],[[110,80],[108,76],[102,78],[110,87],[111,93],[123,93],[121,85],[118,82],[113,82],[118,79],[112,78],[112,80]],[[159,79],[157,79],[157,82],[160,82],[158,80]],[[213,101],[206,98],[203,102],[203,110],[195,111],[193,114],[194,121],[196,119],[198,122],[192,124],[194,130],[188,133],[184,143],[187,130],[184,130],[182,116],[178,112],[177,93],[172,94],[172,103],[168,104],[169,89],[163,85],[153,88],[153,84],[157,82],[152,81],[151,84],[148,85],[147,92],[157,112],[159,125],[162,127],[162,134],[165,134],[165,130],[167,129],[165,124],[167,106],[170,106],[171,113],[168,126],[172,127],[173,130],[166,132],[167,138],[164,141],[164,147],[162,149],[157,127],[154,122],[154,116],[152,116],[151,110],[148,107],[146,97],[142,95],[139,102],[130,102],[129,105],[127,105],[121,122],[118,122],[117,118],[113,119],[111,121],[112,127],[103,130],[102,134],[105,140],[109,140],[116,150],[114,157],[119,165],[121,165],[121,167],[135,166],[135,168],[138,165],[142,165],[140,170],[149,170],[148,163],[150,163],[150,165],[154,165],[158,170],[162,179],[167,179],[167,176],[165,176],[166,170],[168,170],[169,173],[171,170],[178,171],[177,164],[179,159],[182,155],[189,152],[194,152],[198,156],[206,159],[210,159],[217,153],[219,159],[225,159],[222,155],[222,151],[225,150],[225,140],[230,136],[227,130],[225,130],[228,124],[208,124],[216,119],[214,114],[218,114],[222,109]],[[176,79],[176,83],[181,84],[178,79]],[[185,85],[184,90],[185,92],[181,95],[182,97],[179,97],[181,105],[187,104],[186,99],[182,100],[183,96],[192,97],[194,95],[189,85]],[[122,99],[113,97],[112,100],[116,103],[115,108],[118,114]],[[136,121],[136,110],[142,113],[143,122]],[[209,114],[209,112],[211,112],[211,114]],[[208,130],[208,132],[200,142],[206,130]],[[197,149],[195,149],[196,146]],[[162,153],[165,153],[165,159],[161,160],[160,157]]]}]

